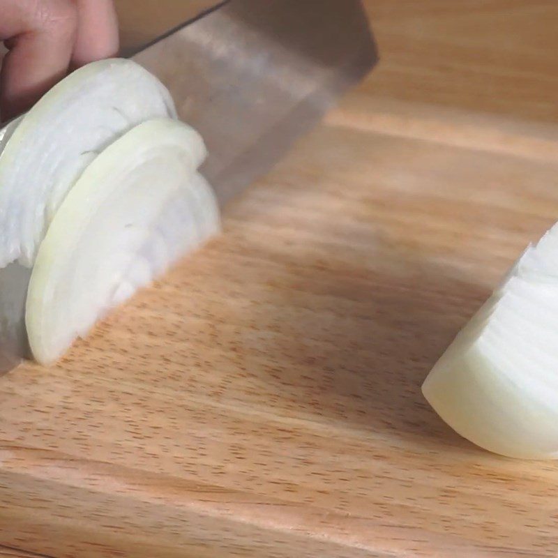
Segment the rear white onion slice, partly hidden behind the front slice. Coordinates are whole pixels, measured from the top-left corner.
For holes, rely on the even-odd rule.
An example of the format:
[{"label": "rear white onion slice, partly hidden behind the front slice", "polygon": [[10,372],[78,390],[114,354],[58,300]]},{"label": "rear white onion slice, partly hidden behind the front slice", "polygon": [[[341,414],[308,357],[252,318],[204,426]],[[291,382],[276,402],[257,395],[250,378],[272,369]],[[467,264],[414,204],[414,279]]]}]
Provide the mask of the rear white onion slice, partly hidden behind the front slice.
[{"label": "rear white onion slice, partly hidden behind the front slice", "polygon": [[175,117],[165,86],[137,63],[99,61],[54,86],[0,137],[0,267],[32,266],[56,210],[91,160],[158,116]]}]

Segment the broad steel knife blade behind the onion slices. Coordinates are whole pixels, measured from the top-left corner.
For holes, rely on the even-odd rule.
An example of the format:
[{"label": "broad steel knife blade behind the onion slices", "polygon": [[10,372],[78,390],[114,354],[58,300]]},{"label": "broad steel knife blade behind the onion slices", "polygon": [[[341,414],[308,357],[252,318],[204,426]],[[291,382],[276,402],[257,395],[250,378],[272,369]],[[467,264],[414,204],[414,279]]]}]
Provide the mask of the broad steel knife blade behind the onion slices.
[{"label": "broad steel knife blade behind the onion slices", "polygon": [[[137,10],[135,2],[116,1],[124,24],[126,3]],[[204,137],[209,157],[202,172],[222,208],[377,60],[359,0],[157,0],[153,6],[154,33],[163,38],[154,41],[141,26],[130,33],[126,25],[124,52],[140,51],[133,59],[159,77],[181,119]],[[181,23],[184,10],[190,19]],[[19,264],[0,271],[0,372],[29,356],[30,276]]]}]

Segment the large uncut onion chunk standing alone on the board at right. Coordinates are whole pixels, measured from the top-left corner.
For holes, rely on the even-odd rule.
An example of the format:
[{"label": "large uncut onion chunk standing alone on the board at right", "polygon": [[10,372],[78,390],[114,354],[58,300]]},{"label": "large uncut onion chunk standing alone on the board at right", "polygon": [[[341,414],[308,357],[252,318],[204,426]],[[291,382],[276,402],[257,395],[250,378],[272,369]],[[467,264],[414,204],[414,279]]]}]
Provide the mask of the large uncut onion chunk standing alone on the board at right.
[{"label": "large uncut onion chunk standing alone on the board at right", "polygon": [[474,444],[558,458],[558,224],[529,246],[437,362],[423,394]]}]

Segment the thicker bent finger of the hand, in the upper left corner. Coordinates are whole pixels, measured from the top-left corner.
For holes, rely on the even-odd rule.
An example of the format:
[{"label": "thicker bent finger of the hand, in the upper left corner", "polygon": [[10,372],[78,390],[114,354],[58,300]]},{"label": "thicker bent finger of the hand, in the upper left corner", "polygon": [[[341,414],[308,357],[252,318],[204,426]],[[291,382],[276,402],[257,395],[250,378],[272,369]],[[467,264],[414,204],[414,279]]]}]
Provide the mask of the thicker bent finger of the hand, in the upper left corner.
[{"label": "thicker bent finger of the hand, in the upper left corner", "polygon": [[24,112],[68,71],[78,29],[71,0],[0,0],[0,116]]}]

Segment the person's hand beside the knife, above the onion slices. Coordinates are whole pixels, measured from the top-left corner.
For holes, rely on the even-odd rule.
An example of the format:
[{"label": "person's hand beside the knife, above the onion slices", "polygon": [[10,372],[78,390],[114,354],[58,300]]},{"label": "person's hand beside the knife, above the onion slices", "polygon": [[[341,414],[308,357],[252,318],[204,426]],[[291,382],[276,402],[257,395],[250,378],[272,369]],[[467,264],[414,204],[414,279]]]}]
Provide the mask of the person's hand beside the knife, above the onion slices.
[{"label": "person's hand beside the knife, above the onion slices", "polygon": [[0,0],[0,117],[29,109],[70,66],[116,55],[112,0]]}]

